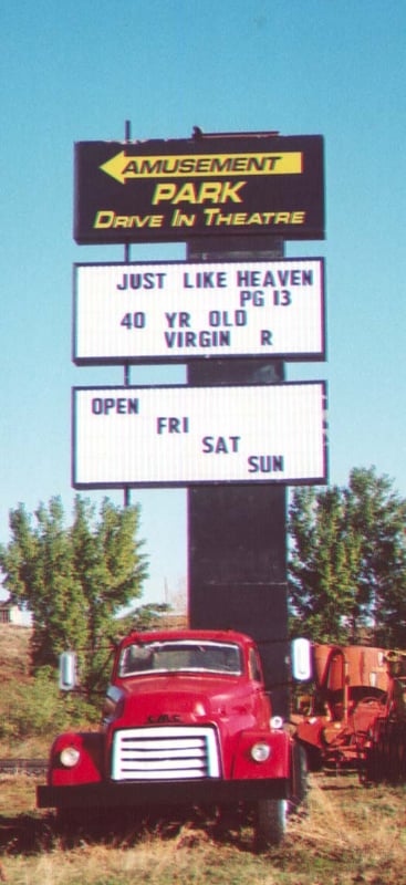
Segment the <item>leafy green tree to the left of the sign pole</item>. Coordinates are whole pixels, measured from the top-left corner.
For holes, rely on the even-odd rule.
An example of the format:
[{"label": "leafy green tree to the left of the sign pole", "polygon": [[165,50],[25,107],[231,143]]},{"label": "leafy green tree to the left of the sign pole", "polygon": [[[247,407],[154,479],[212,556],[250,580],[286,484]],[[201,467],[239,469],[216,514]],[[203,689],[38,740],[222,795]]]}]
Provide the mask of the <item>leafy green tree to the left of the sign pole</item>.
[{"label": "leafy green tree to the left of the sign pole", "polygon": [[12,602],[32,612],[33,668],[55,666],[69,647],[81,649],[83,685],[91,688],[115,617],[139,597],[147,574],[136,540],[139,509],[122,510],[105,499],[97,519],[76,496],[71,528],[60,498],[48,509],[40,504],[34,518],[23,504],[10,512],[11,541],[0,545],[3,585]]}]

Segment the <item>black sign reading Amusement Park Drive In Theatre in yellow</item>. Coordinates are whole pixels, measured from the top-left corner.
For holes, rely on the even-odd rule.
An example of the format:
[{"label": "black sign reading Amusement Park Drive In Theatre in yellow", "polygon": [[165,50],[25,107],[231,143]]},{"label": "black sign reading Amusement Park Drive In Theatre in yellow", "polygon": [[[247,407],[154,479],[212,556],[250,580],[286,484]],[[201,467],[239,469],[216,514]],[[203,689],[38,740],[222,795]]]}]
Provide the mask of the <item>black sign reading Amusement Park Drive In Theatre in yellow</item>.
[{"label": "black sign reading Amusement Park Drive In Theatre in yellow", "polygon": [[77,243],[324,238],[321,135],[75,145]]}]

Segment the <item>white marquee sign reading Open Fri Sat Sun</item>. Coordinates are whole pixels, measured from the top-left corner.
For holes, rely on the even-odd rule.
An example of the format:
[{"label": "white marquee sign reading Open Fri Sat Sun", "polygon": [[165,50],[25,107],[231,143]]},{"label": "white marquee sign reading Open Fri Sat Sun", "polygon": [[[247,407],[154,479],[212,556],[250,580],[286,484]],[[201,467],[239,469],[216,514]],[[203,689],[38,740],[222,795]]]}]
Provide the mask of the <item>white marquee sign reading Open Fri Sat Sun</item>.
[{"label": "white marquee sign reading Open Fri Sat Sun", "polygon": [[73,486],[324,482],[323,382],[73,391]]}]

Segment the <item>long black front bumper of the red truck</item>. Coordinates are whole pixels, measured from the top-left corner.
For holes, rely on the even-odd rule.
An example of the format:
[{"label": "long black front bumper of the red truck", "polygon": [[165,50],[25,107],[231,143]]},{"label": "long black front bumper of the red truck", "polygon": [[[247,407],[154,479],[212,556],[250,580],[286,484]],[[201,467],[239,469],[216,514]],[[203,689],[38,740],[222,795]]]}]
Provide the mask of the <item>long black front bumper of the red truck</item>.
[{"label": "long black front bumper of the red truck", "polygon": [[288,799],[285,778],[223,781],[158,781],[81,783],[77,787],[37,788],[37,806],[45,808],[153,808],[156,805],[208,805]]}]

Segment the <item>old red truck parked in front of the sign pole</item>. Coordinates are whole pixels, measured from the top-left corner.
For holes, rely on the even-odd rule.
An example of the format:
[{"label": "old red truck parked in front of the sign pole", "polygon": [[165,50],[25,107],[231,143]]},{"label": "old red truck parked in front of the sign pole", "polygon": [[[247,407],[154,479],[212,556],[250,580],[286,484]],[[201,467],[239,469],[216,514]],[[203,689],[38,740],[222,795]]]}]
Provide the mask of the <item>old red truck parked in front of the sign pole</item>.
[{"label": "old red truck parked in front of the sign pole", "polygon": [[[300,655],[299,668],[303,647]],[[131,633],[116,650],[101,730],[56,738],[38,805],[73,818],[175,804],[240,808],[253,812],[262,848],[282,840],[289,808],[304,798],[303,757],[272,718],[250,637]]]}]

